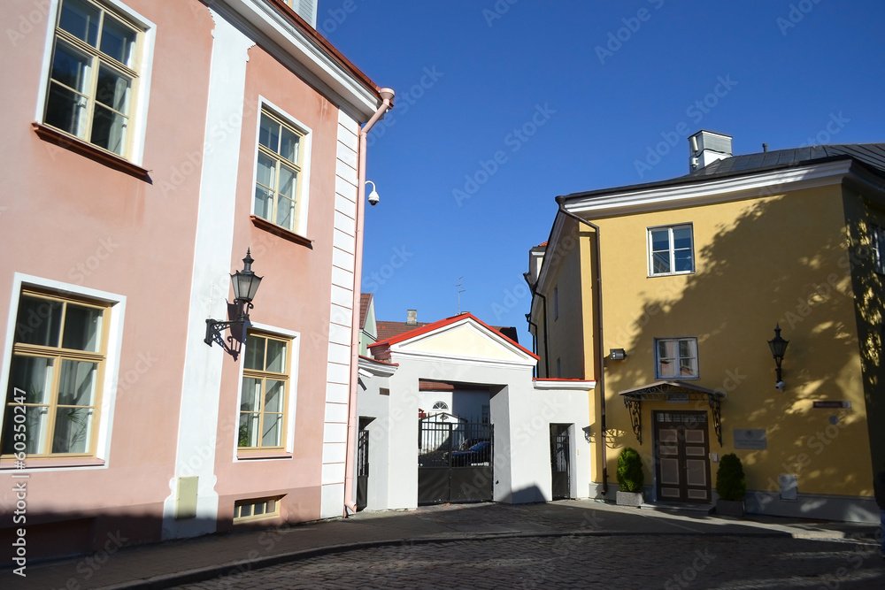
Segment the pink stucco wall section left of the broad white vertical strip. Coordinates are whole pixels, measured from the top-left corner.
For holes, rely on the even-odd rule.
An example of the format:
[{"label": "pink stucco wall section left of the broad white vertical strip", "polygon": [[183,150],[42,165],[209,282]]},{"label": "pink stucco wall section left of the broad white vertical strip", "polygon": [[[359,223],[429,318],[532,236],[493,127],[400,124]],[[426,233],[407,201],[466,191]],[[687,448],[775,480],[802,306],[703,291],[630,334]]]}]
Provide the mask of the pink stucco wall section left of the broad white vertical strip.
[{"label": "pink stucco wall section left of the broad white vertical strip", "polygon": [[[53,554],[69,549],[65,540],[104,542],[111,527],[159,538],[174,473],[200,181],[199,173],[181,175],[181,169],[189,150],[203,145],[213,23],[196,0],[127,0],[158,28],[146,181],[45,142],[32,130],[49,34],[46,15],[35,14],[43,4],[0,3],[4,28],[12,23],[24,30],[22,18],[33,23],[4,48],[0,65],[5,80],[16,80],[0,115],[0,206],[6,208],[0,213],[0,334],[5,338],[9,327],[14,272],[92,287],[127,297],[120,380],[138,364],[130,373],[137,379],[119,387],[106,468],[35,471],[29,479],[29,539],[35,552]],[[173,175],[173,183],[165,182]],[[4,513],[10,477],[0,472]],[[114,514],[121,517],[116,522],[108,518]],[[58,515],[104,518],[72,521],[63,534],[38,526]],[[7,520],[0,526],[10,525]]]}]

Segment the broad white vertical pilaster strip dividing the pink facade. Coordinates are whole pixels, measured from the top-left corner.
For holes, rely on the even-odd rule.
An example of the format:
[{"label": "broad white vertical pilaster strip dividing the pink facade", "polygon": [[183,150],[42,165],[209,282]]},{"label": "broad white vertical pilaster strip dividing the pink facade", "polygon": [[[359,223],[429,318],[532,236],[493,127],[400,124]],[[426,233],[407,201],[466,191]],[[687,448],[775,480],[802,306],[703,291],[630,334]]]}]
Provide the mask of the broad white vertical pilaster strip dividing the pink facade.
[{"label": "broad white vertical pilaster strip dividing the pink facade", "polygon": [[[242,120],[246,87],[246,64],[252,40],[232,23],[209,9],[212,32],[212,65],[206,105],[206,138],[212,129],[232,116]],[[218,346],[203,341],[207,318],[226,318],[230,292],[230,264],[234,243],[236,175],[240,162],[242,126],[235,126],[227,141],[219,142],[204,157],[200,178],[196,240],[181,379],[178,448],[175,473],[163,507],[163,539],[214,533],[219,495],[215,491],[215,457],[219,427],[221,369],[227,358]],[[172,411],[172,410],[170,410]],[[175,518],[177,479],[198,477],[196,518]]]}]

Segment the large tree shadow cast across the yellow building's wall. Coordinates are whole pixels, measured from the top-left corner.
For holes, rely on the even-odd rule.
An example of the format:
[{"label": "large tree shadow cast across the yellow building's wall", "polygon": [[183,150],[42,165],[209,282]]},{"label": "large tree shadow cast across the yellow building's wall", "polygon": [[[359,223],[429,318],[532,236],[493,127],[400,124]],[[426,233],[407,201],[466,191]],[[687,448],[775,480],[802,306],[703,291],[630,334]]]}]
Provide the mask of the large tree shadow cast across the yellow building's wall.
[{"label": "large tree shadow cast across the yellow building's wall", "polygon": [[[767,450],[737,451],[750,489],[778,490],[775,479],[754,469],[765,463],[778,466],[767,467],[769,472],[797,475],[800,493],[817,482],[812,489],[821,494],[872,494],[867,437],[874,438],[875,424],[880,430],[885,425],[883,404],[876,405],[881,399],[881,285],[873,272],[870,222],[834,219],[833,211],[842,208],[836,191],[746,201],[737,218],[720,222],[712,241],[696,249],[696,273],[686,277],[683,289],[673,288],[681,278],[648,279],[642,312],[628,326],[605,326],[606,334],[628,334],[629,341],[619,345],[626,344],[633,356],[606,363],[606,390],[615,411],[627,416],[618,391],[655,380],[655,338],[696,335],[700,379],[692,382],[727,395],[722,402],[724,447],[733,448],[734,429],[766,429]],[[846,203],[852,198],[849,194]],[[862,205],[851,203],[866,215]],[[685,218],[692,218],[690,210]],[[695,227],[696,236],[704,232]],[[773,387],[774,362],[766,345],[775,323],[789,340],[785,392]],[[850,400],[852,407],[812,409],[813,400]],[[706,402],[654,407],[709,410]],[[877,418],[871,416],[868,433],[863,414],[875,408]],[[643,414],[647,451],[647,407]],[[623,441],[622,431],[612,434]],[[710,434],[715,451],[718,445]],[[627,439],[635,443],[632,433]],[[881,437],[877,440],[874,452],[885,453]],[[609,455],[610,472],[612,457],[616,454]],[[873,456],[873,463],[883,459]]]}]

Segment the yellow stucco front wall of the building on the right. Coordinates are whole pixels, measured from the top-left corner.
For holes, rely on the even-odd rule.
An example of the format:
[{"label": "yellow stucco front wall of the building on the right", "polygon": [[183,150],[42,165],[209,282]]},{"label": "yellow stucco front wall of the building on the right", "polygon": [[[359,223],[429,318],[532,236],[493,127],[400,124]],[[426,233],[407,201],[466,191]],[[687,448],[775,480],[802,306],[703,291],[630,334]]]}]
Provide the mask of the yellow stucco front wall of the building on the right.
[{"label": "yellow stucco front wall of the building on the right", "polygon": [[[652,410],[708,409],[706,402],[643,402],[639,445],[618,395],[655,380],[655,338],[696,336],[700,378],[692,383],[727,393],[723,446],[711,421],[710,450],[734,451],[734,429],[766,429],[766,450],[735,451],[749,489],[777,491],[778,474],[789,473],[800,494],[872,494],[841,188],[592,220],[602,235],[604,350],[627,350],[626,360],[605,361],[610,482],[620,448],[637,448],[652,465]],[[696,272],[649,277],[647,228],[686,223],[693,226]],[[589,318],[592,297],[583,305]],[[790,341],[782,393],[773,387],[766,343],[777,322]],[[593,379],[592,355],[584,363]],[[851,408],[813,409],[816,400]],[[713,482],[717,466],[711,464]]]}]

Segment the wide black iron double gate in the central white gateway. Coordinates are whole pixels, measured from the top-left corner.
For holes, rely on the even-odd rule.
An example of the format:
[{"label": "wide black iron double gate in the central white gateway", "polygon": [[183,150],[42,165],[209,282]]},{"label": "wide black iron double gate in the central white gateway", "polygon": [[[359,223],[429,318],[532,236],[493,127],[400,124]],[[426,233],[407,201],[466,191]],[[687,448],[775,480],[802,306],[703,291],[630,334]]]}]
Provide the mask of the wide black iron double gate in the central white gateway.
[{"label": "wide black iron double gate in the central white gateway", "polygon": [[492,499],[494,427],[437,414],[418,422],[418,503]]}]

